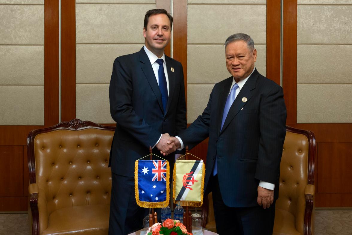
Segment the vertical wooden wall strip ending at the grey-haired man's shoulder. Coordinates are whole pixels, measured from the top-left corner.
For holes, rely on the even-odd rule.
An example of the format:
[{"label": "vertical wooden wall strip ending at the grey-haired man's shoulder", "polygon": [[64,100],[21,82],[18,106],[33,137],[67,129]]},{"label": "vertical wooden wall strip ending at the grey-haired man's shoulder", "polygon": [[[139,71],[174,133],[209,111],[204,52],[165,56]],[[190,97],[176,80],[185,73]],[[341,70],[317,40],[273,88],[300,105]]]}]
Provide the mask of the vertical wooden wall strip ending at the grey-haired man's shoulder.
[{"label": "vertical wooden wall strip ending at the grey-haired man's shoulder", "polygon": [[266,77],[280,85],[280,1],[266,1]]}]

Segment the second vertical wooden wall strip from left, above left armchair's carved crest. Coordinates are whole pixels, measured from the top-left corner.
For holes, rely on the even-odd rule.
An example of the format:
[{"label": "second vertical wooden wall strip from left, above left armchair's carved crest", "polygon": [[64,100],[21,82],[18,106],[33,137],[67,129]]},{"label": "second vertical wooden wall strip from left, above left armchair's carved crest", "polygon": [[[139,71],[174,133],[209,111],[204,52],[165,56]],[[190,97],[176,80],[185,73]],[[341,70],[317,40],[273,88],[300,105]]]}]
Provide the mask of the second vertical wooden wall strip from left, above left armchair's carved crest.
[{"label": "second vertical wooden wall strip from left, above left armchair's carved crest", "polygon": [[75,1],[61,0],[61,120],[76,118]]}]

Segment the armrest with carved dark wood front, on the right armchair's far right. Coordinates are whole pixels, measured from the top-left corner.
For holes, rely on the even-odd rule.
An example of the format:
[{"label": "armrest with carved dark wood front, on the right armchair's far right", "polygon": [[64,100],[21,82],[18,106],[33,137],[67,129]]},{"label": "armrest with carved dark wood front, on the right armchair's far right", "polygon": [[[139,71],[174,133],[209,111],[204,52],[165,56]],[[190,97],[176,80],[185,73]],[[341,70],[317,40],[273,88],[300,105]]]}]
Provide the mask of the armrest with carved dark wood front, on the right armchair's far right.
[{"label": "armrest with carved dark wood front, on the right armchair's far right", "polygon": [[304,196],[306,197],[306,209],[304,210],[304,235],[312,235],[312,211],[314,206],[315,186],[307,184],[304,188]]}]

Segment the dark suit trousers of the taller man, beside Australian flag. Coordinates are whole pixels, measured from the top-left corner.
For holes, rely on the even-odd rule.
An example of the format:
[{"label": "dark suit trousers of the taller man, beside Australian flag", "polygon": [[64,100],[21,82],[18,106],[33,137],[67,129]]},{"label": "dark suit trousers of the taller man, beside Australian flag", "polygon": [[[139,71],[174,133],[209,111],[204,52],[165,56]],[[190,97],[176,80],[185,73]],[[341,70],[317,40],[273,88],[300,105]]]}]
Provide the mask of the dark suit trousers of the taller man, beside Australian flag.
[{"label": "dark suit trousers of the taller man, beside Australian flag", "polygon": [[134,193],[134,177],[111,173],[109,235],[126,235],[143,228],[149,209],[139,207]]}]

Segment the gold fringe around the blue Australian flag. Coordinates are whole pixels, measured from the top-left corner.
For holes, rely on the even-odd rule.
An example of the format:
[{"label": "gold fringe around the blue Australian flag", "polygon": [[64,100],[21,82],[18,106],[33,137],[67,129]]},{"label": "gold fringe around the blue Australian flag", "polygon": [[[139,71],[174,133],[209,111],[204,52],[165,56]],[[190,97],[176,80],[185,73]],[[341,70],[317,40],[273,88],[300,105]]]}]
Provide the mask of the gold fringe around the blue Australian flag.
[{"label": "gold fringe around the blue Australian flag", "polygon": [[166,160],[166,201],[164,202],[143,202],[139,200],[138,190],[138,160],[134,162],[134,193],[136,196],[137,205],[143,208],[164,208],[169,205],[170,200],[170,165]]}]

